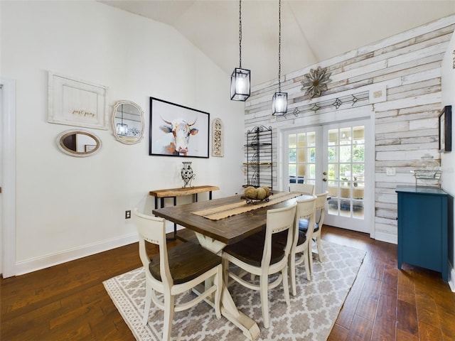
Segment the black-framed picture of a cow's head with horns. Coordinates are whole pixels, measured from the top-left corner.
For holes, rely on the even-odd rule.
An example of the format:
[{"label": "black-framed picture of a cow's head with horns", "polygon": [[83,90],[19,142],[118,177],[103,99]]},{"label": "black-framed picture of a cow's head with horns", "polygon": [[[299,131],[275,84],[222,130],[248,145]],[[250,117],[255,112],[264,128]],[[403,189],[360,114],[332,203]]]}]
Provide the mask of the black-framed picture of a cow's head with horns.
[{"label": "black-framed picture of a cow's head with horns", "polygon": [[208,158],[210,114],[150,97],[149,155]]}]

